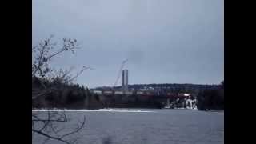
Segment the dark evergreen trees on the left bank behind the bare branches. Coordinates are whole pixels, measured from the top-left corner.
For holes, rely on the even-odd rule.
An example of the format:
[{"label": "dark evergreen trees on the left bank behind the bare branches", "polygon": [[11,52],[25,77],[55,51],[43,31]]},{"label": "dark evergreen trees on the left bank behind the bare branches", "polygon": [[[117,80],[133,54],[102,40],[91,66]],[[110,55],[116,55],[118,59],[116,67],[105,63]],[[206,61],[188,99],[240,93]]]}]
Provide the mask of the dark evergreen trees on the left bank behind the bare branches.
[{"label": "dark evergreen trees on the left bank behind the bare branches", "polygon": [[[58,81],[56,78],[53,82],[49,82],[42,78],[32,78],[32,86],[34,90],[45,90],[53,88],[43,97],[32,100],[32,108],[88,108],[89,104],[94,104],[91,94],[87,87],[78,84],[66,84]],[[90,101],[90,102],[86,102]],[[97,102],[97,100],[96,100]]]}]

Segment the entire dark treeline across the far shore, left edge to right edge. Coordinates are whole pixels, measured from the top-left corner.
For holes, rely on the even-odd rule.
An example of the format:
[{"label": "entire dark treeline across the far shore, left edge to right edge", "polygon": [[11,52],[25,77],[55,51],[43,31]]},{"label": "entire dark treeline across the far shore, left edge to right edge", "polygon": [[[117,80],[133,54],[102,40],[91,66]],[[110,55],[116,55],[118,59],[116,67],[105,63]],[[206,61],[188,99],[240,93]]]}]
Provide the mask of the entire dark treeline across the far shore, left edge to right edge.
[{"label": "entire dark treeline across the far shore, left edge to right edge", "polygon": [[[92,94],[87,87],[78,84],[67,84],[58,81],[49,82],[43,78],[33,78],[32,86],[34,90],[54,87],[54,90],[33,100],[33,108],[67,108],[67,109],[98,109],[98,108],[162,108],[166,105],[166,98],[152,95],[138,95],[136,93],[126,95],[104,95]],[[158,88],[160,91],[172,93],[191,94],[191,99],[197,99],[198,110],[224,110],[224,81],[220,85],[193,85],[193,84],[149,84],[131,85],[130,88],[136,90],[145,86]],[[176,86],[176,87],[175,87]],[[182,108],[185,98],[170,98],[173,103],[171,108]]]}]

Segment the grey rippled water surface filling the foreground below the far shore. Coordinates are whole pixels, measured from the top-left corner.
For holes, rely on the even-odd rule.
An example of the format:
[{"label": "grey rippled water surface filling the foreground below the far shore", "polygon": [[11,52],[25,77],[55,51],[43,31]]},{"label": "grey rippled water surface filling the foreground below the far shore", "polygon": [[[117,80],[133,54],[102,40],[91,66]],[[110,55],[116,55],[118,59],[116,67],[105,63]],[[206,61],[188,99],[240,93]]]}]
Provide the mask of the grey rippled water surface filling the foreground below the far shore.
[{"label": "grey rippled water surface filling the foreground below the far shore", "polygon": [[[88,144],[222,144],[224,112],[198,110],[81,110],[66,111],[75,126],[85,115],[86,127],[75,136]],[[147,112],[143,112],[147,111]],[[44,114],[44,111],[33,113]],[[43,138],[34,135],[33,143]],[[49,141],[47,143],[61,143]]]}]

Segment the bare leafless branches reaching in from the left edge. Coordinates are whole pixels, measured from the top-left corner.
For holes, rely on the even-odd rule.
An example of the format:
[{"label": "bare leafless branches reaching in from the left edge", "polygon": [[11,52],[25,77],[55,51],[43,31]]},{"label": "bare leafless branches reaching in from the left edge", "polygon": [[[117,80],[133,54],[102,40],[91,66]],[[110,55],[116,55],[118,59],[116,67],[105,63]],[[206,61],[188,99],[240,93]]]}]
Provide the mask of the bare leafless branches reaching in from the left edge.
[{"label": "bare leafless branches reaching in from the left edge", "polygon": [[[63,38],[62,46],[56,49],[57,43],[52,42],[53,36],[47,38],[43,42],[40,42],[37,46],[32,47],[33,61],[32,61],[32,81],[34,78],[41,78],[48,82],[59,82],[69,84],[74,79],[78,78],[85,70],[91,70],[88,66],[83,66],[77,74],[72,75],[70,70],[54,70],[50,67],[50,61],[57,55],[66,51],[71,51],[74,54],[74,50],[79,49],[77,40]],[[42,81],[42,89],[37,89],[32,86],[32,100],[36,98],[45,97],[54,90],[57,90],[58,84],[53,86],[45,86]],[[62,122],[68,122],[65,111],[50,111],[47,110],[47,114],[43,115],[36,112],[32,112],[32,134],[40,134],[48,140],[57,140],[67,144],[77,142],[78,138],[69,138],[70,135],[78,133],[79,130],[85,126],[86,118],[82,119],[82,122],[78,122],[78,126],[67,132],[63,133],[63,128],[59,128],[59,124]]]}]

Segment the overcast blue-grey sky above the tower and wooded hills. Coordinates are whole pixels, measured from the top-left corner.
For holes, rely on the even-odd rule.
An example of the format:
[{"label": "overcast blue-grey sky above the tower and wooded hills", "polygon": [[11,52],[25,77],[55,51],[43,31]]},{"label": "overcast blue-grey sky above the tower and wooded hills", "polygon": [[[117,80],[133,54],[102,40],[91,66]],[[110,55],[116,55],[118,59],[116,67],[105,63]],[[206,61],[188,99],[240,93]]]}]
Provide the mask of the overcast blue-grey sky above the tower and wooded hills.
[{"label": "overcast blue-grey sky above the tower and wooded hills", "polygon": [[130,84],[224,79],[223,0],[33,0],[32,10],[32,45],[76,38],[82,49],[53,66],[93,67],[77,80],[90,88],[112,86],[126,58]]}]

